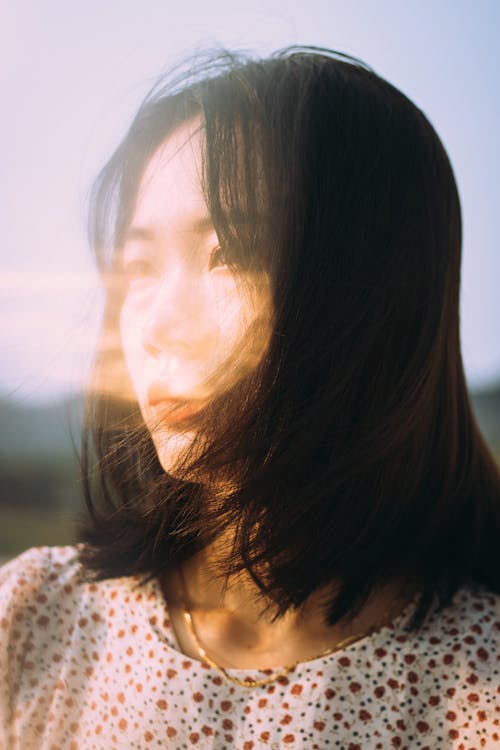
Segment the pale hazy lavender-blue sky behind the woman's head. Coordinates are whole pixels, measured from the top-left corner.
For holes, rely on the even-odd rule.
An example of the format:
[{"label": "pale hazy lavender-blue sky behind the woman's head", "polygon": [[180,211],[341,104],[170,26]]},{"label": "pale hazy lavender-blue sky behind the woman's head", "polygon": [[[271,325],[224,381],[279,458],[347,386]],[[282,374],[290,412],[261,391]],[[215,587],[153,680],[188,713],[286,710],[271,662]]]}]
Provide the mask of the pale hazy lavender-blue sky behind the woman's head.
[{"label": "pale hazy lavender-blue sky behind the woman's head", "polygon": [[217,46],[347,52],[424,111],[462,202],[467,379],[500,380],[500,2],[4,0],[0,28],[0,396],[82,387],[102,303],[89,187],[157,75]]}]

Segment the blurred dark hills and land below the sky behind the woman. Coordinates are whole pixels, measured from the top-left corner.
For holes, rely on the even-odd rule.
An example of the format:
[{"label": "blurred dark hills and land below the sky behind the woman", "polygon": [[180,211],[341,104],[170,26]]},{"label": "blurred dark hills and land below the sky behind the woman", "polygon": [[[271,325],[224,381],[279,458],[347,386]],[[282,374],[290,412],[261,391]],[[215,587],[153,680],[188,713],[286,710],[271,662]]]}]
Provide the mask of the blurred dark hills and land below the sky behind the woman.
[{"label": "blurred dark hills and land below the sky behind the woman", "polygon": [[[500,383],[471,393],[500,464]],[[84,510],[77,449],[83,399],[20,405],[0,399],[0,562],[31,546],[71,544]]]}]

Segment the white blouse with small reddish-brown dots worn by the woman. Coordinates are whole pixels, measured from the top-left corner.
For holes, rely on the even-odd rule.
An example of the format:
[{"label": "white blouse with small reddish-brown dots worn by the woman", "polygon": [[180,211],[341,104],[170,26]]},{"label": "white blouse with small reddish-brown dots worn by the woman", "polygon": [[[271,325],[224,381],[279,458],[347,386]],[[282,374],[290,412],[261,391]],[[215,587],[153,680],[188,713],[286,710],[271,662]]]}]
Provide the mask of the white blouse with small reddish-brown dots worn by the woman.
[{"label": "white blouse with small reddish-brown dots worn by the woman", "polygon": [[1,750],[500,750],[499,595],[461,589],[416,634],[412,604],[248,688],[182,654],[158,581],[84,583],[76,553],[0,568]]}]

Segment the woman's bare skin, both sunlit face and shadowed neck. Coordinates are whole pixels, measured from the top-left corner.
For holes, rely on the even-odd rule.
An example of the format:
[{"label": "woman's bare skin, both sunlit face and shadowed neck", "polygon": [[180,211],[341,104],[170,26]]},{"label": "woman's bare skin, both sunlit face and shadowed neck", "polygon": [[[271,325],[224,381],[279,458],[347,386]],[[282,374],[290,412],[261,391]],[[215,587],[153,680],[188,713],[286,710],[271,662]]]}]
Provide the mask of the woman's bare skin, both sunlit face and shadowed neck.
[{"label": "woman's bare skin, both sunlit face and shadowed neck", "polygon": [[[201,408],[258,364],[271,330],[269,281],[264,273],[250,278],[242,272],[238,278],[225,265],[200,175],[199,121],[192,121],[147,166],[121,251],[128,285],[121,344],[158,458],[172,474],[196,428],[169,421],[169,399],[182,399],[177,414]],[[248,337],[255,330],[258,335]],[[224,367],[236,351],[238,372]],[[165,399],[153,403],[162,395],[167,406]],[[322,591],[273,623],[272,612],[262,614],[262,599],[248,576],[224,586],[215,575],[230,544],[229,531],[162,581],[179,647],[193,658],[199,654],[182,616],[186,605],[199,640],[221,666],[272,668],[315,658],[348,636],[362,635],[408,601],[398,586],[386,587],[353,623],[332,628],[324,621]]]}]

